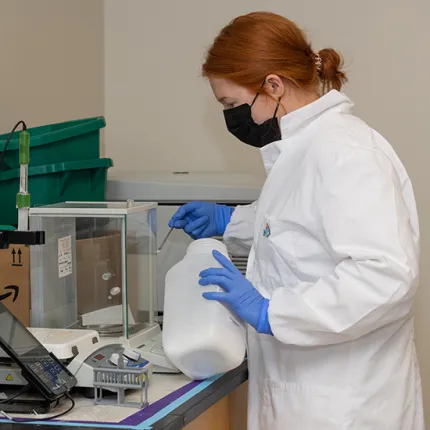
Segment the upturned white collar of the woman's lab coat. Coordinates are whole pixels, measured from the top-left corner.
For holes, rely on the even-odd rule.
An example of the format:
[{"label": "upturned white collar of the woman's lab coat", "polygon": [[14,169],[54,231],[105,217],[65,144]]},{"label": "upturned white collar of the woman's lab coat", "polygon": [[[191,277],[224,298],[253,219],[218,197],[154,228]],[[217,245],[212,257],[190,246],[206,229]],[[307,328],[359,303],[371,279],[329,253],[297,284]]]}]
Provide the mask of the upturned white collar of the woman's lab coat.
[{"label": "upturned white collar of the woman's lab coat", "polygon": [[269,174],[283,147],[287,144],[287,139],[294,136],[322,114],[329,111],[348,113],[353,106],[354,104],[345,94],[332,90],[313,103],[284,115],[280,121],[282,140],[273,142],[261,149],[261,156],[267,174]]}]

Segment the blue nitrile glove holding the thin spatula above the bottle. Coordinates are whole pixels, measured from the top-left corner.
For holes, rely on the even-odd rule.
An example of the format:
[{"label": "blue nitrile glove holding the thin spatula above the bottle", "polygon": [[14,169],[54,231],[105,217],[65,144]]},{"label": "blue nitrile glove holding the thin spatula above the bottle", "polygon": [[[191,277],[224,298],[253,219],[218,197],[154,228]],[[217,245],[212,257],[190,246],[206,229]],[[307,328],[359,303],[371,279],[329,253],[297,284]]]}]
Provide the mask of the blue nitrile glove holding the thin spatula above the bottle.
[{"label": "blue nitrile glove holding the thin spatula above the bottle", "polygon": [[169,221],[169,227],[183,229],[193,239],[222,236],[234,208],[209,202],[191,202],[181,206]]}]

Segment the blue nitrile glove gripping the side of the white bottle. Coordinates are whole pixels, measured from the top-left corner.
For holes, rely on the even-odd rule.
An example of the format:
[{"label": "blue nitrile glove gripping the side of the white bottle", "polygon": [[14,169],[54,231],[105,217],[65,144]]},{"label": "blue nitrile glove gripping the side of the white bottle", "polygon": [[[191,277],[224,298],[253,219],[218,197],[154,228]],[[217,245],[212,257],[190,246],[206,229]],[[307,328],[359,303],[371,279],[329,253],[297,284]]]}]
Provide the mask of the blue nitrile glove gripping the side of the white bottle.
[{"label": "blue nitrile glove gripping the side of the white bottle", "polygon": [[213,251],[213,256],[223,268],[203,270],[199,284],[218,285],[224,292],[203,293],[203,297],[227,305],[258,333],[273,335],[268,318],[269,300],[265,299],[224,255]]}]

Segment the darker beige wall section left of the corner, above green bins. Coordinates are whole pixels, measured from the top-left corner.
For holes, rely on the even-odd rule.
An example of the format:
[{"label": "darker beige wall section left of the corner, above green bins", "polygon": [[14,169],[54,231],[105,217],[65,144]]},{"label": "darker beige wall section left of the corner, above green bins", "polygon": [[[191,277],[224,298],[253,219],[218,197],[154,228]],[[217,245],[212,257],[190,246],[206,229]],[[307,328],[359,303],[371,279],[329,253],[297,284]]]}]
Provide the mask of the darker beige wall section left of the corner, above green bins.
[{"label": "darker beige wall section left of the corner, above green bins", "polygon": [[0,0],[0,132],[103,115],[103,1]]}]

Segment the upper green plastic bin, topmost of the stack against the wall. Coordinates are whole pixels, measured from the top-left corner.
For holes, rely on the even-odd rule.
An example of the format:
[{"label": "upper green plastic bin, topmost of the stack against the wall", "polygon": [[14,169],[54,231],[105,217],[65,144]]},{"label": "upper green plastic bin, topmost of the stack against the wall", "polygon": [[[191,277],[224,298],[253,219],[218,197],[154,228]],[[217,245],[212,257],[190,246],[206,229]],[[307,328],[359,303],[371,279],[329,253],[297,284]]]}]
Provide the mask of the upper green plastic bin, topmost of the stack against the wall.
[{"label": "upper green plastic bin, topmost of the stack against the wall", "polygon": [[[99,158],[100,129],[105,126],[105,119],[96,117],[29,128],[30,166]],[[9,142],[2,171],[19,168],[19,133]],[[8,136],[0,135],[0,154]]]}]

